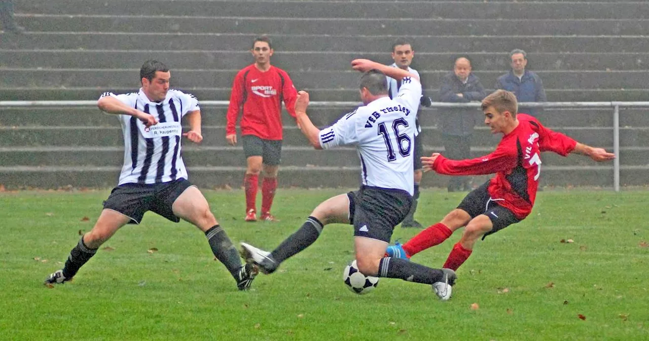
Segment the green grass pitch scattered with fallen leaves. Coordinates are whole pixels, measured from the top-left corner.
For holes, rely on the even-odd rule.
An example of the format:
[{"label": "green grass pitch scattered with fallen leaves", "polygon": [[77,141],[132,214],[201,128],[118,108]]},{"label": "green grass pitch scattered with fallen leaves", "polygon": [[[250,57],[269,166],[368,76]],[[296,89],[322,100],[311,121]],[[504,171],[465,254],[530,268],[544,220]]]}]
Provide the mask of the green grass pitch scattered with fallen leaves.
[{"label": "green grass pitch scattered with fallen leaves", "polygon": [[[205,194],[233,241],[271,249],[317,203],[341,192],[279,190],[280,223],[245,223],[240,190]],[[151,213],[106,242],[114,250],[99,251],[74,281],[45,288],[43,279],[62,268],[106,196],[0,194],[0,339],[649,338],[649,248],[641,244],[649,241],[646,192],[540,193],[528,219],[476,244],[447,302],[430,286],[396,279],[381,279],[366,296],[349,292],[341,281],[353,258],[347,225],[325,227],[278,273],[260,275],[254,290],[238,292],[198,229]],[[462,196],[424,191],[417,219],[438,221]],[[397,227],[393,239],[416,232]],[[413,261],[441,266],[458,239],[459,232]],[[147,253],[151,247],[159,251]],[[472,310],[472,303],[480,308]]]}]

